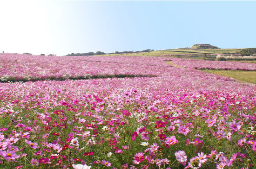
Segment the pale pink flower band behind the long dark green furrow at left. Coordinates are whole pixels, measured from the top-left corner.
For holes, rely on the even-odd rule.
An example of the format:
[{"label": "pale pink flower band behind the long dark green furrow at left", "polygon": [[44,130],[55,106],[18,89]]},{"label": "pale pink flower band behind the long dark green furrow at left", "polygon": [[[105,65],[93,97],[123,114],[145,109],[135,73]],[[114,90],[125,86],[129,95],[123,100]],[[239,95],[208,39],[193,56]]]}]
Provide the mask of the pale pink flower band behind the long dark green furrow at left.
[{"label": "pale pink flower band behind the long dark green furrow at left", "polygon": [[168,71],[164,57],[33,56],[0,54],[1,81],[91,78],[120,75],[152,76]]}]

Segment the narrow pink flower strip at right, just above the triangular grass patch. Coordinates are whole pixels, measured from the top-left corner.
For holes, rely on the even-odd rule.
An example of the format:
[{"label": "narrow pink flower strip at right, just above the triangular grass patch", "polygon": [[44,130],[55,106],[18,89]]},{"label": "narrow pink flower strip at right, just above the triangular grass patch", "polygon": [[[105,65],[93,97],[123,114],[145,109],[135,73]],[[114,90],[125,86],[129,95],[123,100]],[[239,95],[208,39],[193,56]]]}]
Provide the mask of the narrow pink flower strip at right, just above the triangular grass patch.
[{"label": "narrow pink flower strip at right, just above the triangular grass patch", "polygon": [[237,62],[219,62],[196,59],[177,59],[173,58],[172,62],[186,68],[192,69],[218,69],[218,70],[256,70],[254,63],[237,63]]}]

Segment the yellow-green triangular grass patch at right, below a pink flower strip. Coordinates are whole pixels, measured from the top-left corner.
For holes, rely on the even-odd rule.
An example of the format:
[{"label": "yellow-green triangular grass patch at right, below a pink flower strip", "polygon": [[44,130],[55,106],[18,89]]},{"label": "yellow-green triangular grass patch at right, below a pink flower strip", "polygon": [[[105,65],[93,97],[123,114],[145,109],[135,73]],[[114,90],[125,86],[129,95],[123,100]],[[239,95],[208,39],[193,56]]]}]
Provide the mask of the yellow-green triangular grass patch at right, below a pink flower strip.
[{"label": "yellow-green triangular grass patch at right, below a pink flower strip", "polygon": [[202,70],[216,75],[232,77],[238,81],[245,81],[256,84],[256,71],[245,70]]}]

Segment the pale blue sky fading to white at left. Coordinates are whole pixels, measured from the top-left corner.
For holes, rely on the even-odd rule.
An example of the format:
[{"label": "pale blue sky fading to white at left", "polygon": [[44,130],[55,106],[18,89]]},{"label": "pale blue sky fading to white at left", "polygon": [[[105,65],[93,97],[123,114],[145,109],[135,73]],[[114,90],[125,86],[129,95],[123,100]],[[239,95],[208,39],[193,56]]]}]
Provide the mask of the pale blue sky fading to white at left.
[{"label": "pale blue sky fading to white at left", "polygon": [[256,47],[256,1],[1,0],[0,52]]}]

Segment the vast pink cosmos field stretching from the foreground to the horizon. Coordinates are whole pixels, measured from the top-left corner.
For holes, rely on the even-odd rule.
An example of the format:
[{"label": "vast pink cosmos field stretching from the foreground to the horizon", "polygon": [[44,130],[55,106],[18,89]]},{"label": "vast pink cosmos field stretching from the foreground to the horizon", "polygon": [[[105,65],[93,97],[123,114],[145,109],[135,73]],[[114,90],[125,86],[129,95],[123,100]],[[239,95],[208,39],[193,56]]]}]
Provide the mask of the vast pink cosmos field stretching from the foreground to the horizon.
[{"label": "vast pink cosmos field stretching from the foreground to the horizon", "polygon": [[0,168],[256,168],[256,85],[165,60],[1,54]]}]

